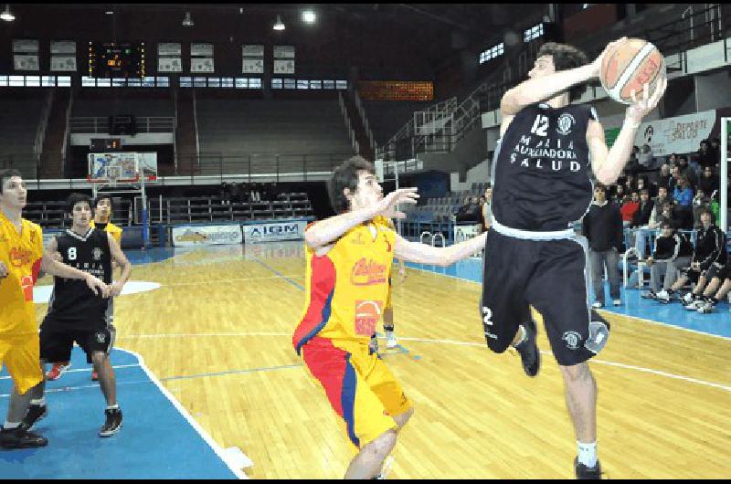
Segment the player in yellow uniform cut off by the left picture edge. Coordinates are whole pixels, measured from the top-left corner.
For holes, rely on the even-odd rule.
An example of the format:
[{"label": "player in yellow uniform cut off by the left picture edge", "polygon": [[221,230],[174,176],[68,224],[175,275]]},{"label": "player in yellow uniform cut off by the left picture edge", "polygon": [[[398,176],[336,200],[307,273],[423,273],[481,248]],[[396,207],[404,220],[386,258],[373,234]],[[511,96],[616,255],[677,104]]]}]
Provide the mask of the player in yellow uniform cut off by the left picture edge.
[{"label": "player in yellow uniform cut off by the left picture edge", "polygon": [[30,390],[43,381],[33,286],[38,272],[83,279],[94,293],[109,296],[100,279],[56,261],[43,252],[41,228],[22,217],[27,190],[15,170],[0,171],[0,362],[13,379],[0,447],[44,447],[48,440],[20,426],[30,403]]}]

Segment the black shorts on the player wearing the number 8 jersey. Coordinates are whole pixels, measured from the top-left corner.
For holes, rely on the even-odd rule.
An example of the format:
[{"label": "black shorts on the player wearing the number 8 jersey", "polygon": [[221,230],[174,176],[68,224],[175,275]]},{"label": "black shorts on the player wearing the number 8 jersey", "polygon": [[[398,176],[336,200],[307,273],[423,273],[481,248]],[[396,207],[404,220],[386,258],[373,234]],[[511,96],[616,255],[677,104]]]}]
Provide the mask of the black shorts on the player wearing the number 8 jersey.
[{"label": "black shorts on the player wearing the number 8 jersey", "polygon": [[116,331],[113,327],[100,326],[94,330],[69,330],[62,324],[48,319],[40,328],[40,357],[48,363],[68,362],[74,342],[86,352],[86,361],[91,363],[93,352],[109,354],[114,344]]}]

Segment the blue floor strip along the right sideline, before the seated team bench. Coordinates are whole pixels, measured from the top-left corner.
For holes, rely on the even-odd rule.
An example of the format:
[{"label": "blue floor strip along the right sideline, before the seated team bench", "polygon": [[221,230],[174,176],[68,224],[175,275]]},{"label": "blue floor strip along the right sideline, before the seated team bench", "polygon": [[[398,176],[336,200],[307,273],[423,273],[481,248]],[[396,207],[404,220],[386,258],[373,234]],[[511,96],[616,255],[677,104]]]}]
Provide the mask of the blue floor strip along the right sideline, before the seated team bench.
[{"label": "blue floor strip along the right sideline, before the seated team bench", "polygon": [[[423,264],[412,264],[407,262],[407,267],[418,268],[452,278],[471,280],[482,283],[482,258],[468,258],[452,264],[448,268],[428,266]],[[609,287],[605,283],[606,298],[609,301]],[[626,316],[652,320],[677,326],[687,330],[701,331],[715,336],[731,338],[731,311],[727,301],[716,306],[716,311],[711,314],[700,314],[696,311],[685,310],[679,302],[661,304],[654,300],[644,300],[640,297],[640,289],[621,289],[622,306],[618,308],[606,307],[605,310],[624,314]],[[590,295],[593,302],[594,295]]]}]

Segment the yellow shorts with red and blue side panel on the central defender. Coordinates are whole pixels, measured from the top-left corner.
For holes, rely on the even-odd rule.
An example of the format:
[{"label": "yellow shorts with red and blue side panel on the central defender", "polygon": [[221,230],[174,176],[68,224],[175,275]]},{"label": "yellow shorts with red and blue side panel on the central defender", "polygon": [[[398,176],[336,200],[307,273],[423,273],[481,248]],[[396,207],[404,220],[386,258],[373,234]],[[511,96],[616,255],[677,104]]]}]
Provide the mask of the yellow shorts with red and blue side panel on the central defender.
[{"label": "yellow shorts with red and blue side panel on the central defender", "polygon": [[386,363],[371,354],[367,345],[315,337],[302,347],[302,359],[355,447],[396,430],[393,416],[411,408]]}]

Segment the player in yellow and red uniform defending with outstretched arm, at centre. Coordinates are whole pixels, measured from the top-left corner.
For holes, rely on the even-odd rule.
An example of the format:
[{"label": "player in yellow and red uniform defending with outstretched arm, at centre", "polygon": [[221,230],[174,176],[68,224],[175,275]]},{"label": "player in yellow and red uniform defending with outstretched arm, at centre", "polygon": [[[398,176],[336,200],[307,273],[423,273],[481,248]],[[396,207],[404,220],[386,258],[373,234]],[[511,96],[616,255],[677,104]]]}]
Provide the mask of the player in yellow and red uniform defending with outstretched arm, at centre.
[{"label": "player in yellow and red uniform defending with outstretched arm, at centre", "polygon": [[305,230],[305,308],[292,345],[358,449],[345,479],[372,479],[413,414],[386,363],[368,350],[386,304],[393,258],[449,266],[480,251],[486,235],[452,247],[398,236],[376,217],[403,218],[397,204],[415,204],[417,190],[404,188],[384,197],[375,167],[360,156],[335,169],[328,191],[341,215]]}]

